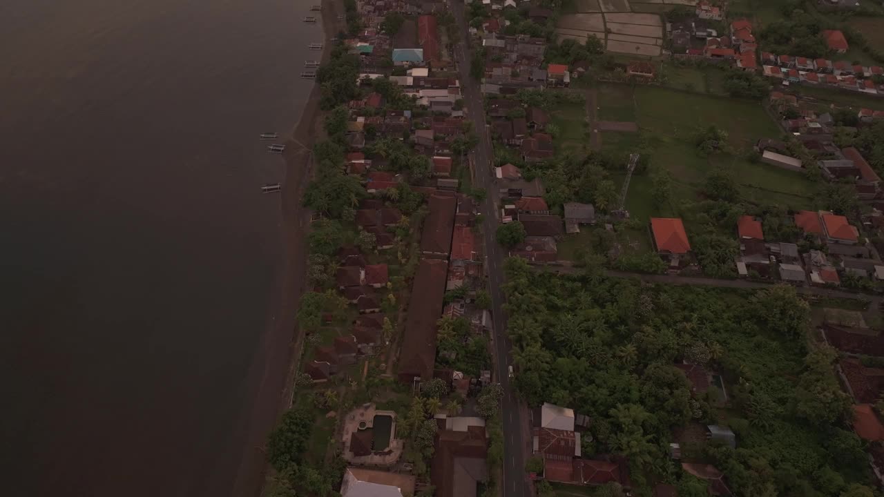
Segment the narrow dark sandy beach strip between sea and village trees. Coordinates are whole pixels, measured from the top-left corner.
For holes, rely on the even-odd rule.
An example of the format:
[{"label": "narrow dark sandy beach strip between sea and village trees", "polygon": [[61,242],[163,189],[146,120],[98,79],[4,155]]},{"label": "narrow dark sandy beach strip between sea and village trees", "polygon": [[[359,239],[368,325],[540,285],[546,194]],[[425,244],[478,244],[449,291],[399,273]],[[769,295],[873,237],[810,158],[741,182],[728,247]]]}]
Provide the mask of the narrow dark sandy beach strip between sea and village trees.
[{"label": "narrow dark sandy beach strip between sea and village trees", "polygon": [[[323,43],[320,64],[331,57],[331,38],[341,29],[338,16],[344,12],[342,0],[322,0]],[[280,198],[280,236],[283,261],[278,279],[278,318],[271,316],[269,331],[255,355],[252,368],[260,375],[251,405],[245,406],[245,443],[231,494],[234,497],[263,493],[265,476],[271,470],[264,446],[267,434],[277,424],[279,415],[292,404],[293,380],[301,357],[303,333],[295,324],[297,303],[306,290],[307,247],[305,232],[310,212],[303,206],[304,191],[311,179],[312,149],[324,133],[323,111],[319,108],[322,91],[316,82],[310,89],[301,116],[286,134],[285,173]],[[271,306],[271,309],[273,306]]]}]

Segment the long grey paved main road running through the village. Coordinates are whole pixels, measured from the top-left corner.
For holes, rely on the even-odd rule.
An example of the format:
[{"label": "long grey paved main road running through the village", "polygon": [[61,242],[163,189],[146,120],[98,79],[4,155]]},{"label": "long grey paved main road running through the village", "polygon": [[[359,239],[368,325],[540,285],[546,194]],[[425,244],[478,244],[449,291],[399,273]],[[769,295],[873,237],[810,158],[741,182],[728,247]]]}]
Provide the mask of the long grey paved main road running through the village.
[{"label": "long grey paved main road running through the village", "polygon": [[476,134],[479,137],[479,143],[473,152],[475,164],[476,179],[474,184],[482,187],[488,192],[483,203],[480,204],[480,210],[483,214],[482,230],[484,233],[485,255],[487,256],[486,265],[488,267],[489,286],[492,295],[492,314],[494,329],[494,355],[497,363],[497,378],[499,378],[500,386],[503,386],[503,401],[501,408],[503,410],[503,436],[504,436],[504,461],[503,461],[503,494],[505,497],[526,497],[530,496],[529,484],[525,478],[525,448],[527,441],[523,436],[526,420],[523,419],[522,413],[526,412],[522,402],[519,401],[509,383],[508,366],[510,364],[509,348],[510,343],[507,340],[507,317],[503,313],[504,296],[500,286],[503,284],[503,254],[497,241],[495,240],[495,232],[497,230],[497,217],[495,199],[497,198],[497,187],[493,181],[492,169],[492,142],[488,137],[488,130],[485,127],[485,114],[482,99],[482,92],[476,80],[469,76],[470,52],[468,48],[469,31],[467,21],[463,12],[463,3],[458,0],[449,0],[449,6],[457,20],[458,27],[461,29],[461,42],[454,47],[454,58],[457,61],[461,71],[461,91],[463,101],[469,112],[469,119],[472,120]]}]

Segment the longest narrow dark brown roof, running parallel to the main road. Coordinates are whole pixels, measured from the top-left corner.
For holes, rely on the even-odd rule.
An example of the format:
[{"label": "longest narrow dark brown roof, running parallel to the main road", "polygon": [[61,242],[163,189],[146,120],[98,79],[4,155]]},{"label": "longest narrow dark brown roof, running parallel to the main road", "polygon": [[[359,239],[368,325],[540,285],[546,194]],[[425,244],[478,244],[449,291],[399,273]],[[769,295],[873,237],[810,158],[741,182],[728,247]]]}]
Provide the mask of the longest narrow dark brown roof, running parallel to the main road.
[{"label": "longest narrow dark brown roof, running parallel to the main road", "polygon": [[432,378],[436,363],[436,321],[442,315],[447,275],[445,260],[423,259],[417,266],[413,294],[419,294],[420,298],[411,299],[408,304],[400,351],[399,378],[404,383],[411,384],[415,378]]}]

